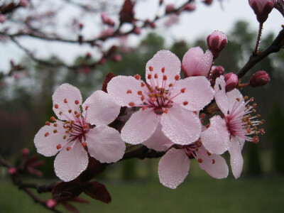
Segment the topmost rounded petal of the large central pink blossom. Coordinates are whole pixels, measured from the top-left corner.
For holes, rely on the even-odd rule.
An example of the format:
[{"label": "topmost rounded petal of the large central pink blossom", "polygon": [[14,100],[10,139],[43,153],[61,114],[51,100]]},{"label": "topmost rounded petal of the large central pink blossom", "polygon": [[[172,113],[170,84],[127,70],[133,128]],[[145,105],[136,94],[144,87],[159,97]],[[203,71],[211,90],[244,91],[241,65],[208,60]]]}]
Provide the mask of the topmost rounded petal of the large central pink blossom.
[{"label": "topmost rounded petal of the large central pink blossom", "polygon": [[[150,71],[150,67],[153,68],[153,71]],[[165,72],[162,72],[163,67],[165,67]],[[152,77],[158,75],[158,84],[162,85],[163,75],[166,75],[167,85],[175,82],[175,76],[180,76],[180,60],[178,57],[170,52],[169,50],[160,50],[156,53],[151,60],[146,64],[146,81],[148,84],[151,84],[151,81],[148,80],[148,75]]]}]

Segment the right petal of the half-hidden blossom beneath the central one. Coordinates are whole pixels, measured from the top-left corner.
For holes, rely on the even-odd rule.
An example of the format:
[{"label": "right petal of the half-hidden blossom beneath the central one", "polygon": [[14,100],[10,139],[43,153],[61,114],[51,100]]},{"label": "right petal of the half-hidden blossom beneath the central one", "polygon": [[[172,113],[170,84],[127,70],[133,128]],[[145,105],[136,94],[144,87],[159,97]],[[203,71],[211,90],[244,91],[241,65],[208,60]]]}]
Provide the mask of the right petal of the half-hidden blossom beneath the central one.
[{"label": "right petal of the half-hidden blossom beneath the central one", "polygon": [[196,155],[197,158],[202,159],[202,163],[199,163],[200,168],[205,170],[213,178],[221,179],[228,176],[228,165],[226,165],[226,160],[220,155],[208,155],[207,151],[202,147],[199,148]]}]

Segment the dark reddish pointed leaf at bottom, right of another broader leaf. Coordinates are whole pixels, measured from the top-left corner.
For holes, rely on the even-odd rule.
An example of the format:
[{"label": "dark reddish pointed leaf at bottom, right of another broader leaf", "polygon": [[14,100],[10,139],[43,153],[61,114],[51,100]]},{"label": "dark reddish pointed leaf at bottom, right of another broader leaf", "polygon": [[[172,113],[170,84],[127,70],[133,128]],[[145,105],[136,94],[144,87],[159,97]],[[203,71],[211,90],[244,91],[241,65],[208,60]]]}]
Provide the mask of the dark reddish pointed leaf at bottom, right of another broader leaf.
[{"label": "dark reddish pointed leaf at bottom, right of another broader leaf", "polygon": [[111,202],[111,195],[109,195],[107,187],[105,187],[102,183],[99,183],[97,181],[87,182],[82,188],[83,192],[86,195],[89,195],[89,197],[105,203]]}]

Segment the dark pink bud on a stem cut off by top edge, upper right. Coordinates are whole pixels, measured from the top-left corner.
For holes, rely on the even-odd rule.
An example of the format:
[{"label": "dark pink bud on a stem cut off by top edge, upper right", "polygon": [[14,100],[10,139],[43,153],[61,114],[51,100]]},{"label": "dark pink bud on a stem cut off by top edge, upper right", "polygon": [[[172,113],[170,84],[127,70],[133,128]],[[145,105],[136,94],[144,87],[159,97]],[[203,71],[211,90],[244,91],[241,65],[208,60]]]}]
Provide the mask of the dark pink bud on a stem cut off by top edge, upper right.
[{"label": "dark pink bud on a stem cut off by top edge, upper right", "polygon": [[277,0],[249,0],[249,5],[256,14],[259,23],[263,23],[268,18]]}]

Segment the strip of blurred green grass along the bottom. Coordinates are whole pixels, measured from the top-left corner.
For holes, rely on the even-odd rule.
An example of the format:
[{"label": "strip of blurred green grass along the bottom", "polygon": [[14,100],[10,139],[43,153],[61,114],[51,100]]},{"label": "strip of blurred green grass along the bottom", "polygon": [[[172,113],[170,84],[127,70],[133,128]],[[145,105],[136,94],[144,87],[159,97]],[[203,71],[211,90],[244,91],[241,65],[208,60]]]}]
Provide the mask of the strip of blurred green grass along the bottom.
[{"label": "strip of blurred green grass along the bottom", "polygon": [[[156,178],[144,182],[102,182],[111,193],[111,204],[83,196],[91,203],[77,204],[81,212],[281,212],[284,209],[283,177],[214,180],[193,173],[176,190],[163,187]],[[0,182],[0,197],[1,213],[49,212],[9,181]]]}]

